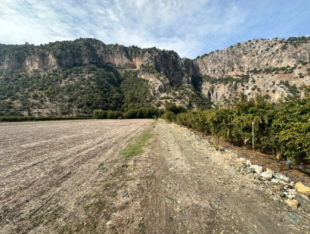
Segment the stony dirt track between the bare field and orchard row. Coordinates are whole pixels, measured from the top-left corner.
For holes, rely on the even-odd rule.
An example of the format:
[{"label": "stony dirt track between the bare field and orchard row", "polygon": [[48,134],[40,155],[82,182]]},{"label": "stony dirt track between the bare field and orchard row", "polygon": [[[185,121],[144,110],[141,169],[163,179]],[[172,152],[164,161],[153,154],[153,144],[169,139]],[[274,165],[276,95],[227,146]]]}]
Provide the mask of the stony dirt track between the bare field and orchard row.
[{"label": "stony dirt track between the bare field and orchard row", "polygon": [[283,204],[235,175],[229,153],[174,124],[156,129],[149,152],[156,193],[143,206],[146,233],[304,233],[286,225],[277,212]]}]

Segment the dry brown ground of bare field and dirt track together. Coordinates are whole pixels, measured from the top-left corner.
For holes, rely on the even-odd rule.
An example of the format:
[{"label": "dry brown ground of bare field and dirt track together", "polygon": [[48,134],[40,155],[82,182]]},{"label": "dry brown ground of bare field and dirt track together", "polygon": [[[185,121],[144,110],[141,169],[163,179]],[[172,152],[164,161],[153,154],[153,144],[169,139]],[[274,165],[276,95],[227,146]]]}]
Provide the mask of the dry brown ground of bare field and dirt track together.
[{"label": "dry brown ground of bare field and dirt track together", "polygon": [[[1,124],[0,233],[309,233],[230,153],[152,122]],[[121,156],[143,131],[145,152]]]}]

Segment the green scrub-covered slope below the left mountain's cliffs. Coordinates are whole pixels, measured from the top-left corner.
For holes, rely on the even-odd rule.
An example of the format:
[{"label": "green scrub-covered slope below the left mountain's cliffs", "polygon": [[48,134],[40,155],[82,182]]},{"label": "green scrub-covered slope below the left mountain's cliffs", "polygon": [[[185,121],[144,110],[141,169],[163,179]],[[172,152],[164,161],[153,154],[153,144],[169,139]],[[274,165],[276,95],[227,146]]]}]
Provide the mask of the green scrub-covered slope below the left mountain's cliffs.
[{"label": "green scrub-covered slope below the left mountain's cliffs", "polygon": [[[19,101],[14,108],[14,101]],[[103,65],[66,67],[46,74],[35,71],[3,74],[0,110],[4,113],[43,108],[50,103],[59,114],[92,114],[94,109],[118,110],[150,107],[147,81],[137,72],[118,73]],[[56,113],[50,113],[56,114]]]}]

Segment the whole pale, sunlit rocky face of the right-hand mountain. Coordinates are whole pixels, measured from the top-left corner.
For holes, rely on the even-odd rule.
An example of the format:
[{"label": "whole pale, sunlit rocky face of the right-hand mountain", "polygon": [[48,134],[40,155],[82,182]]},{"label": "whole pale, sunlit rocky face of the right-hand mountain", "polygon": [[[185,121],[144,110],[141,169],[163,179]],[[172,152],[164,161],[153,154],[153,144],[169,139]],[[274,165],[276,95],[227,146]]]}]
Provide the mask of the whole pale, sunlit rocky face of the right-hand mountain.
[{"label": "whole pale, sunlit rocky face of the right-hand mountain", "polygon": [[[247,82],[201,84],[203,94],[213,103],[227,103],[236,94],[268,95],[276,102],[310,85],[310,41],[284,39],[252,40],[238,43],[194,61],[198,74],[220,78],[249,76]],[[225,102],[225,100],[227,100]],[[223,102],[224,101],[224,102]]]}]

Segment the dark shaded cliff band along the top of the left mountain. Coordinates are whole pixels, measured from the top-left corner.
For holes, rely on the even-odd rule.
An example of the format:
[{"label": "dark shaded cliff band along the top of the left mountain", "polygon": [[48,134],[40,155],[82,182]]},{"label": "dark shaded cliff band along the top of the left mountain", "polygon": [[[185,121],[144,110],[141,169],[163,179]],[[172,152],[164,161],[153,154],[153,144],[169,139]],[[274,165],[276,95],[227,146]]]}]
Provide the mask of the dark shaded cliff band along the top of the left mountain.
[{"label": "dark shaded cliff band along the top of the left mountain", "polygon": [[77,39],[41,46],[17,45],[1,54],[0,72],[4,73],[19,70],[50,71],[92,63],[112,65],[120,70],[150,65],[175,83],[196,73],[194,63],[187,58],[180,58],[176,52],[161,51],[155,47],[141,49],[135,46],[105,45],[96,39]]}]

